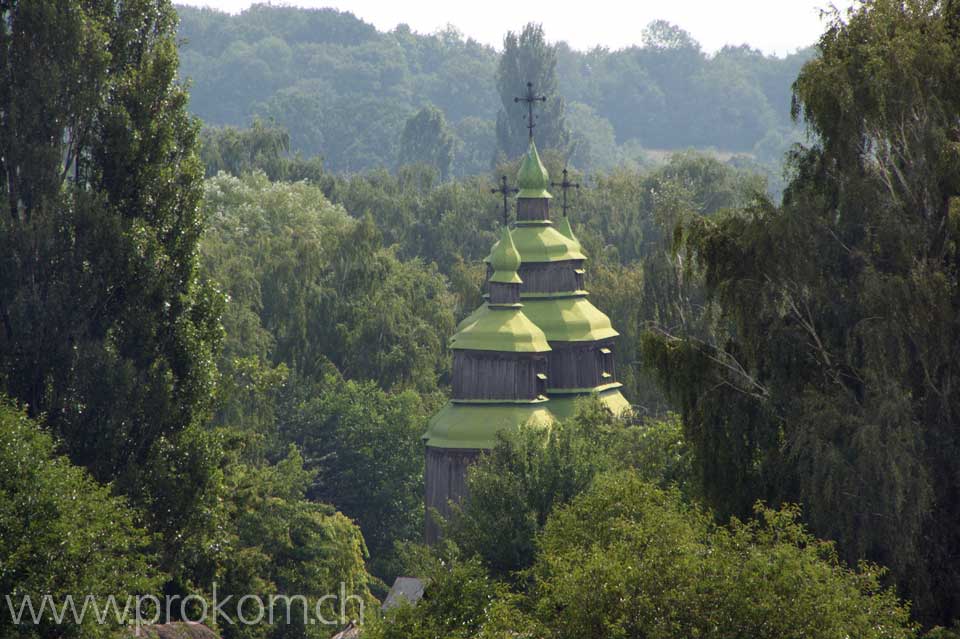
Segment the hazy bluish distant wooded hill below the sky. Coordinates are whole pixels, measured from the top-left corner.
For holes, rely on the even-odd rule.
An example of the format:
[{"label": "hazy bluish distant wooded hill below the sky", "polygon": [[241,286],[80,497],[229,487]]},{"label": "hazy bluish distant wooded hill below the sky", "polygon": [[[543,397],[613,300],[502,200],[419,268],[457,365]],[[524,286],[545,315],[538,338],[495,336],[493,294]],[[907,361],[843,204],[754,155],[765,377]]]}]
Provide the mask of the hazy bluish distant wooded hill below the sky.
[{"label": "hazy bluish distant wooded hill below the sky", "polygon": [[[362,171],[394,166],[408,118],[433,104],[456,136],[452,173],[490,167],[499,54],[452,27],[383,33],[333,9],[177,10],[181,75],[205,123],[272,119],[290,132],[292,151],[322,156],[327,170]],[[790,86],[812,49],[786,58],[747,46],[707,55],[666,23],[645,29],[642,41],[618,51],[557,45],[559,91],[581,168],[690,147],[778,162],[796,139]]]}]

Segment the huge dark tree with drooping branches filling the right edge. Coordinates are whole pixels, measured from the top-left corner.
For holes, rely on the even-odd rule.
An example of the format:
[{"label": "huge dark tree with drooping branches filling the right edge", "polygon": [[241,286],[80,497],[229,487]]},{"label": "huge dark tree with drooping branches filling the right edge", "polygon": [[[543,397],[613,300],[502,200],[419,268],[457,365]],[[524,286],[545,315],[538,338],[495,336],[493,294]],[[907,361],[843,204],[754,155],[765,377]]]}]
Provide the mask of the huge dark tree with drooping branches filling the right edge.
[{"label": "huge dark tree with drooping branches filling the right edge", "polygon": [[694,220],[731,334],[648,339],[712,505],[806,505],[888,565],[926,622],[960,617],[960,11],[836,15],[795,84],[816,144],[784,205]]}]

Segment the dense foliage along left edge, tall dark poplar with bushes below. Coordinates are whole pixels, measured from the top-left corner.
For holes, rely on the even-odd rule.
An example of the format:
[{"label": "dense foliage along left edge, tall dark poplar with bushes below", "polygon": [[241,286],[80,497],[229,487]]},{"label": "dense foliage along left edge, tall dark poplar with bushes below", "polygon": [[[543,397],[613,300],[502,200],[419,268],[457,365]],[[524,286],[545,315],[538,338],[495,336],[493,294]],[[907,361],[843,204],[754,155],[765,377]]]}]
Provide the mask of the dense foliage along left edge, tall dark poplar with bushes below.
[{"label": "dense foliage along left edge, tall dark poplar with bushes below", "polygon": [[200,272],[203,171],[173,8],[5,2],[0,15],[0,390],[87,471],[4,404],[5,594],[82,603],[219,583],[318,597],[343,582],[369,597],[360,531],[306,500],[300,453],[268,458],[210,424],[226,300]]}]

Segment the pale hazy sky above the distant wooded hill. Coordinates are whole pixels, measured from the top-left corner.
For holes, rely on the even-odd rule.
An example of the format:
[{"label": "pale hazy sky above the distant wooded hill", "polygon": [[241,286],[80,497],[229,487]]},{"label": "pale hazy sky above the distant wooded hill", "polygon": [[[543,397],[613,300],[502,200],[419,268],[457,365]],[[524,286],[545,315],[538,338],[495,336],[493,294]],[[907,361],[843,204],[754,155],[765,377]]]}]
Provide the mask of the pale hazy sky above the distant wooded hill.
[{"label": "pale hazy sky above the distant wooded hill", "polygon": [[[195,6],[239,12],[250,0],[175,0]],[[640,44],[651,20],[668,20],[690,32],[708,52],[725,44],[747,43],[783,55],[813,44],[823,31],[820,10],[854,0],[293,0],[274,1],[303,7],[351,11],[381,31],[406,23],[432,33],[452,24],[480,42],[499,48],[507,30],[527,22],[543,24],[551,41],[566,40],[577,49],[601,44],[617,49]]]}]

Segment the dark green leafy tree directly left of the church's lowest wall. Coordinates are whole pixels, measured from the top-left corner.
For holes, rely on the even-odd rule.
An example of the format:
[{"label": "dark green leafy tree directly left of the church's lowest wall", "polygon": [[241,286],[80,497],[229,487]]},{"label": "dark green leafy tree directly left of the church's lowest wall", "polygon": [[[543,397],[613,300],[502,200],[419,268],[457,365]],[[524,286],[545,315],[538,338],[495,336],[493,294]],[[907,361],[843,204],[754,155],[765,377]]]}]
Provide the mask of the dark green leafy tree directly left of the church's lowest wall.
[{"label": "dark green leafy tree directly left of the church's lowest wall", "polygon": [[423,433],[435,408],[411,391],[330,375],[290,391],[279,419],[315,473],[308,496],[357,521],[371,570],[388,575],[397,541],[423,534]]}]

